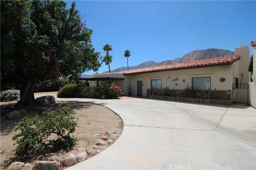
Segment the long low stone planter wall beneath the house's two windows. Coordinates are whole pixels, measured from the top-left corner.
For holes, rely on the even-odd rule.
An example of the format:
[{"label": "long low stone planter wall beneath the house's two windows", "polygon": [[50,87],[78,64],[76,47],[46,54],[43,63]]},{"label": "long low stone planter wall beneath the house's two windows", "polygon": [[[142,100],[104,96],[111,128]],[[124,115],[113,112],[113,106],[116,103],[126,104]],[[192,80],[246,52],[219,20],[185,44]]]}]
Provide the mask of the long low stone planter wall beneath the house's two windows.
[{"label": "long low stone planter wall beneath the house's two windows", "polygon": [[221,90],[147,89],[149,98],[231,105],[232,92]]}]

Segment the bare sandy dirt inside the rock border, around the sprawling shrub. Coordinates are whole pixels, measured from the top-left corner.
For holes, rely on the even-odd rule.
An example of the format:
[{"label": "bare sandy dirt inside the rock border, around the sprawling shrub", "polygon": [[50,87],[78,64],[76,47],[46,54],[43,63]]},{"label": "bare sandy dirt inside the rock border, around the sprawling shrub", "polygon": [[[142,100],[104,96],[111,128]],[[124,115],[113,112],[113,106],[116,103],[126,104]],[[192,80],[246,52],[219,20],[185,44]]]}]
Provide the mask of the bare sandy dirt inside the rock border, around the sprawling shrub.
[{"label": "bare sandy dirt inside the rock border, around the sprawling shrub", "polygon": [[[36,153],[35,155],[26,156],[25,158],[17,157],[14,151],[14,142],[12,141],[12,137],[16,133],[13,130],[15,123],[21,121],[22,118],[25,116],[42,115],[42,111],[51,111],[64,106],[71,107],[74,111],[73,113],[71,113],[71,115],[73,115],[75,118],[78,118],[77,121],[79,128],[76,128],[76,132],[74,133],[74,136],[78,139],[77,145],[74,148],[71,148],[69,151],[60,150],[57,152],[48,152],[46,154]],[[116,115],[110,109],[96,104],[57,102],[56,104],[52,104],[50,106],[36,106],[22,109],[26,109],[26,113],[21,115],[21,118],[15,120],[9,120],[7,118],[4,118],[4,112],[6,112],[6,109],[3,109],[3,114],[1,111],[1,169],[5,169],[7,166],[15,161],[24,163],[29,162],[33,165],[37,160],[42,158],[43,160],[61,161],[62,158],[68,153],[73,153],[74,155],[77,155],[79,154],[79,152],[85,151],[86,149],[93,149],[93,146],[96,143],[95,140],[100,138],[102,139],[101,134],[105,133],[105,131],[109,131],[111,134],[114,134],[116,129],[123,130],[123,121],[118,115]],[[113,137],[114,142],[119,137],[119,135],[114,134]],[[97,154],[98,152],[106,149],[110,145],[111,143],[108,143],[108,145],[99,147],[97,149],[94,149],[93,151],[95,152],[95,154]],[[88,154],[88,157],[86,159],[92,156],[93,155]]]}]

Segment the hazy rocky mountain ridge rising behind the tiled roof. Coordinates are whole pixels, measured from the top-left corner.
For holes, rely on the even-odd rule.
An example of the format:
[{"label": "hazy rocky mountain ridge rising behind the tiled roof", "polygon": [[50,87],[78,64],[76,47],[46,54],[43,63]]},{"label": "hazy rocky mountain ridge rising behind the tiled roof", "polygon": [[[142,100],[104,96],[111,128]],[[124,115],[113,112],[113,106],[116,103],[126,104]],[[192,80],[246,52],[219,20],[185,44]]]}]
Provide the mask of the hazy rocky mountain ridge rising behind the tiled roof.
[{"label": "hazy rocky mountain ridge rising behind the tiled roof", "polygon": [[[183,55],[182,57],[175,58],[174,60],[166,60],[159,63],[154,61],[148,61],[135,66],[129,66],[129,70],[142,69],[145,67],[152,67],[152,66],[159,66],[159,65],[168,65],[172,63],[182,63],[184,62],[185,58],[193,58],[194,60],[204,60],[209,58],[216,58],[216,57],[223,57],[223,56],[230,56],[230,55],[234,55],[234,52],[226,49],[217,49],[217,48],[197,49]],[[120,72],[120,71],[126,71],[126,70],[127,70],[127,66],[122,66],[115,70],[111,70],[111,72]],[[107,72],[108,71],[103,73],[107,73]]]}]

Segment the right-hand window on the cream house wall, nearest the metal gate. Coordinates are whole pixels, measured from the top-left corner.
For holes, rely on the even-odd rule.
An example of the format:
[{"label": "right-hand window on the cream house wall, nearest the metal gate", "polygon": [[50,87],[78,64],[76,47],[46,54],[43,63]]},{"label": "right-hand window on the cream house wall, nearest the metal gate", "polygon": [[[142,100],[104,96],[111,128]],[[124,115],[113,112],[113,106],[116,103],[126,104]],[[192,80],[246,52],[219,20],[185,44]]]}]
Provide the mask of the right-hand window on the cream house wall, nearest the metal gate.
[{"label": "right-hand window on the cream house wall, nearest the metal gate", "polygon": [[195,90],[211,90],[211,77],[192,78],[192,88]]}]

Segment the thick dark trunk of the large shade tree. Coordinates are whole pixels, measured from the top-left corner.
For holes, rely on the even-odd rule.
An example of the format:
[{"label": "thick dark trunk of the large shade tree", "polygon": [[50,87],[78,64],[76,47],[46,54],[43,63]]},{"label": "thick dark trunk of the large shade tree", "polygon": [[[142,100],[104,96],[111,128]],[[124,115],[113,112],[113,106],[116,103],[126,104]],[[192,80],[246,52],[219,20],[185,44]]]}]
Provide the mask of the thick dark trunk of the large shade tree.
[{"label": "thick dark trunk of the large shade tree", "polygon": [[21,105],[31,105],[36,104],[36,99],[34,96],[34,89],[36,83],[27,82],[25,88],[20,91],[20,104]]}]

